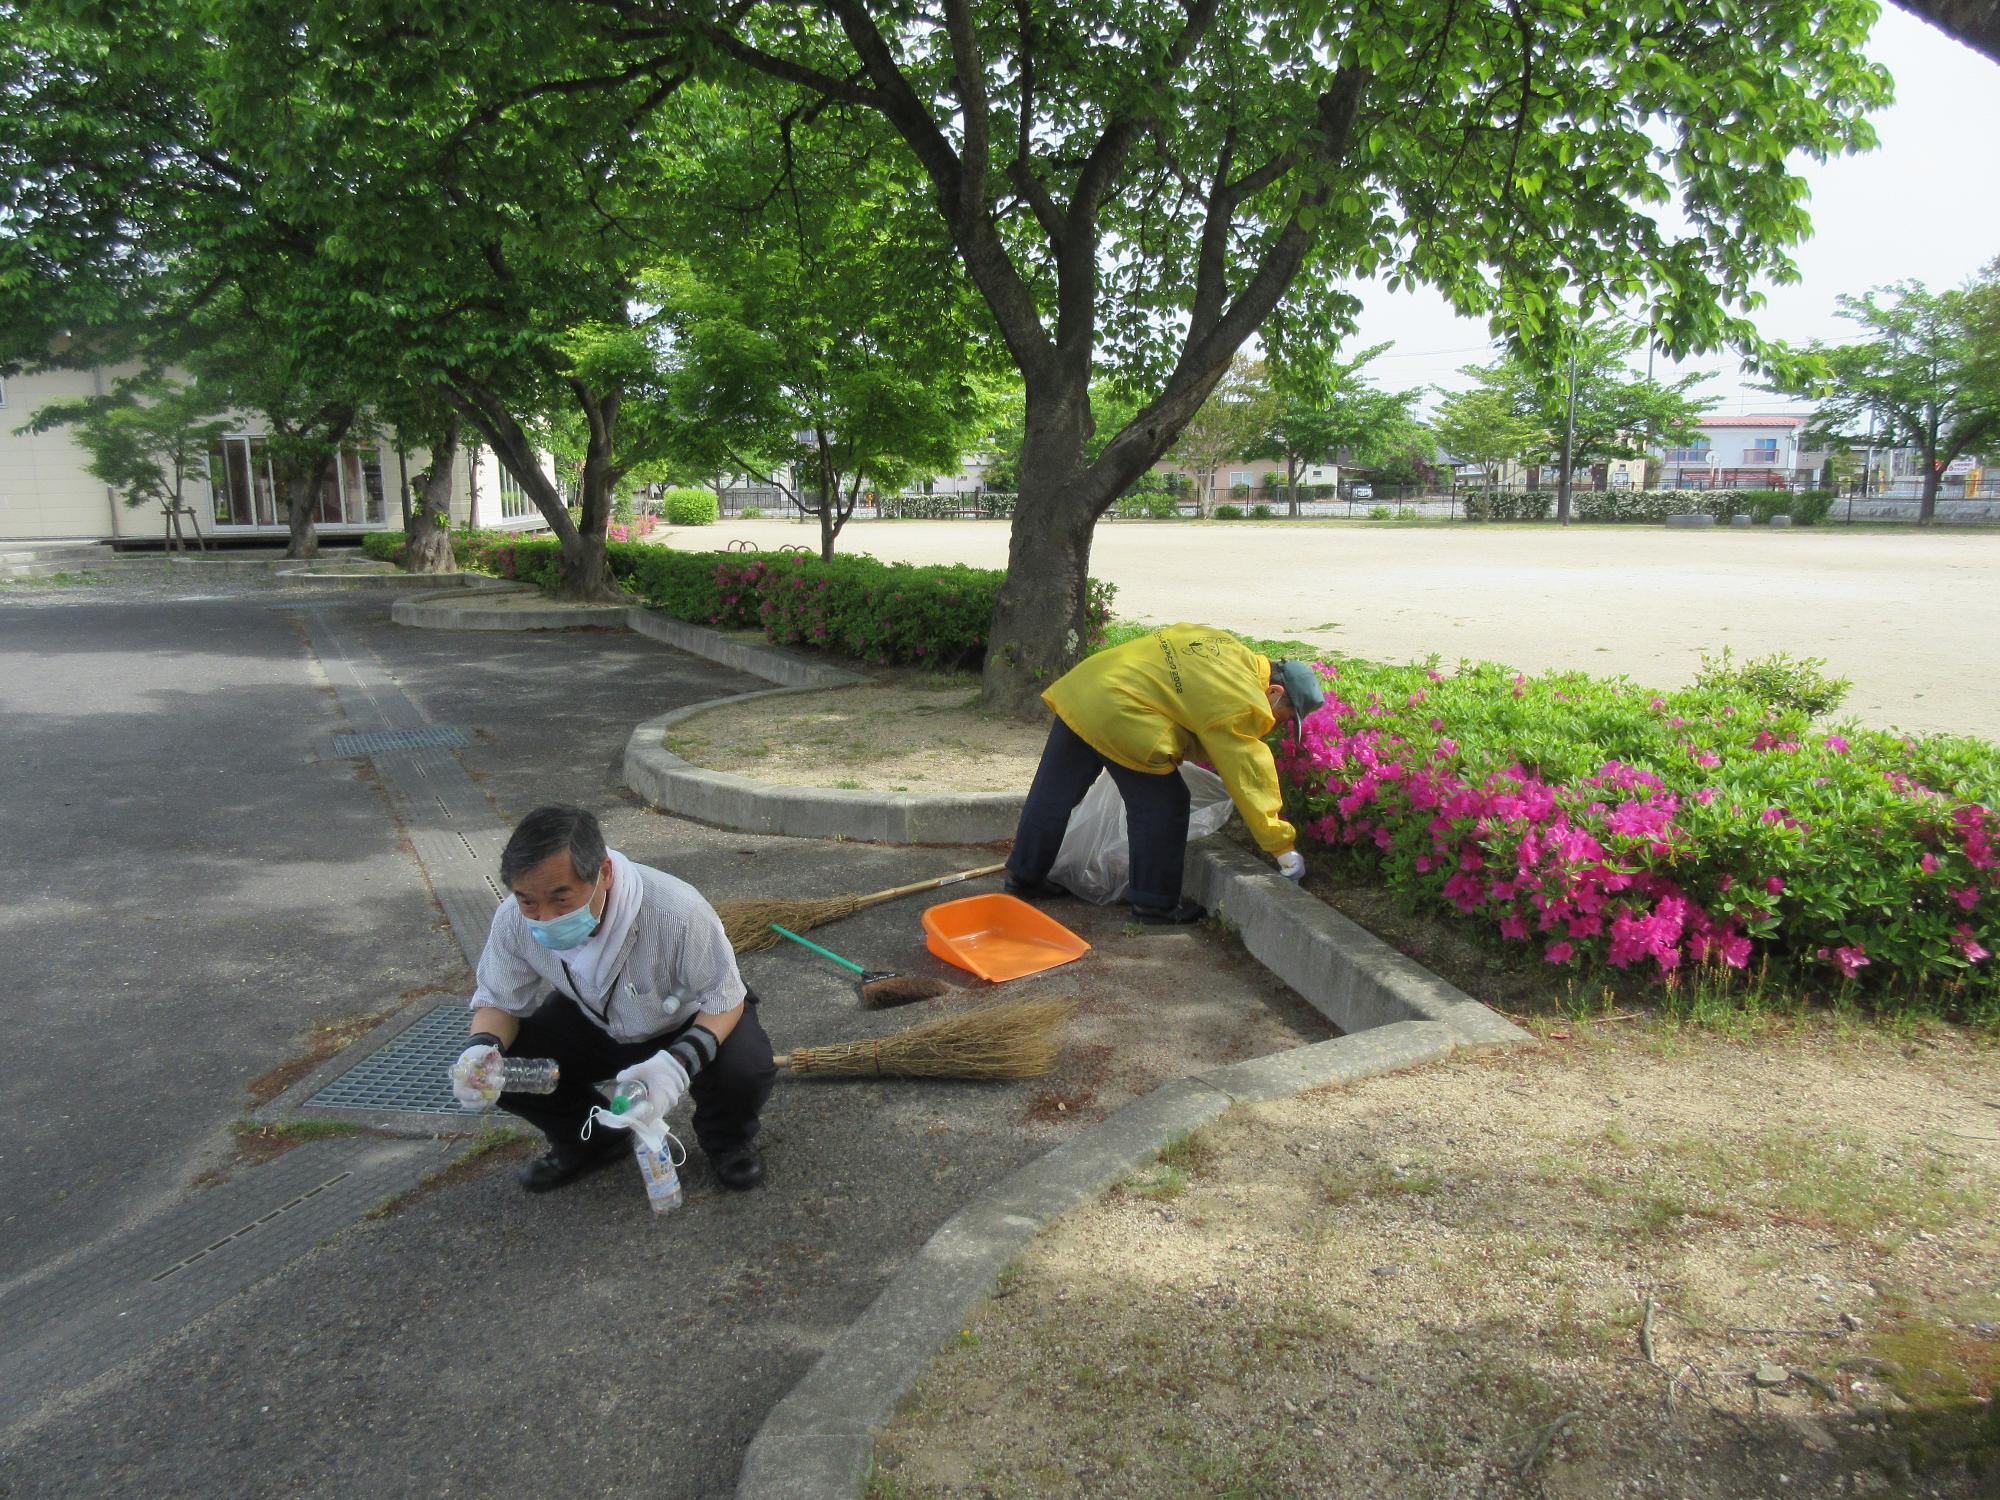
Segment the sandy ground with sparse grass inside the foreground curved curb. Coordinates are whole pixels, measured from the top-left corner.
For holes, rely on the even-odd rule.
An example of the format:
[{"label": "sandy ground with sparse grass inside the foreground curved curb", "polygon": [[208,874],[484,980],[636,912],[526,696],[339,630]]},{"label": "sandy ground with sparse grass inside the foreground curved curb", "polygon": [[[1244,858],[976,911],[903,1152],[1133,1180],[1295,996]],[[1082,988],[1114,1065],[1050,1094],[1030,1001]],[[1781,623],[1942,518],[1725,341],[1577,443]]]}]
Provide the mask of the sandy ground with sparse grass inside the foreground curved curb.
[{"label": "sandy ground with sparse grass inside the foreground curved curb", "polygon": [[1956,1038],[1564,1026],[1240,1108],[1030,1246],[870,1494],[1992,1494],[1996,1182]]}]

